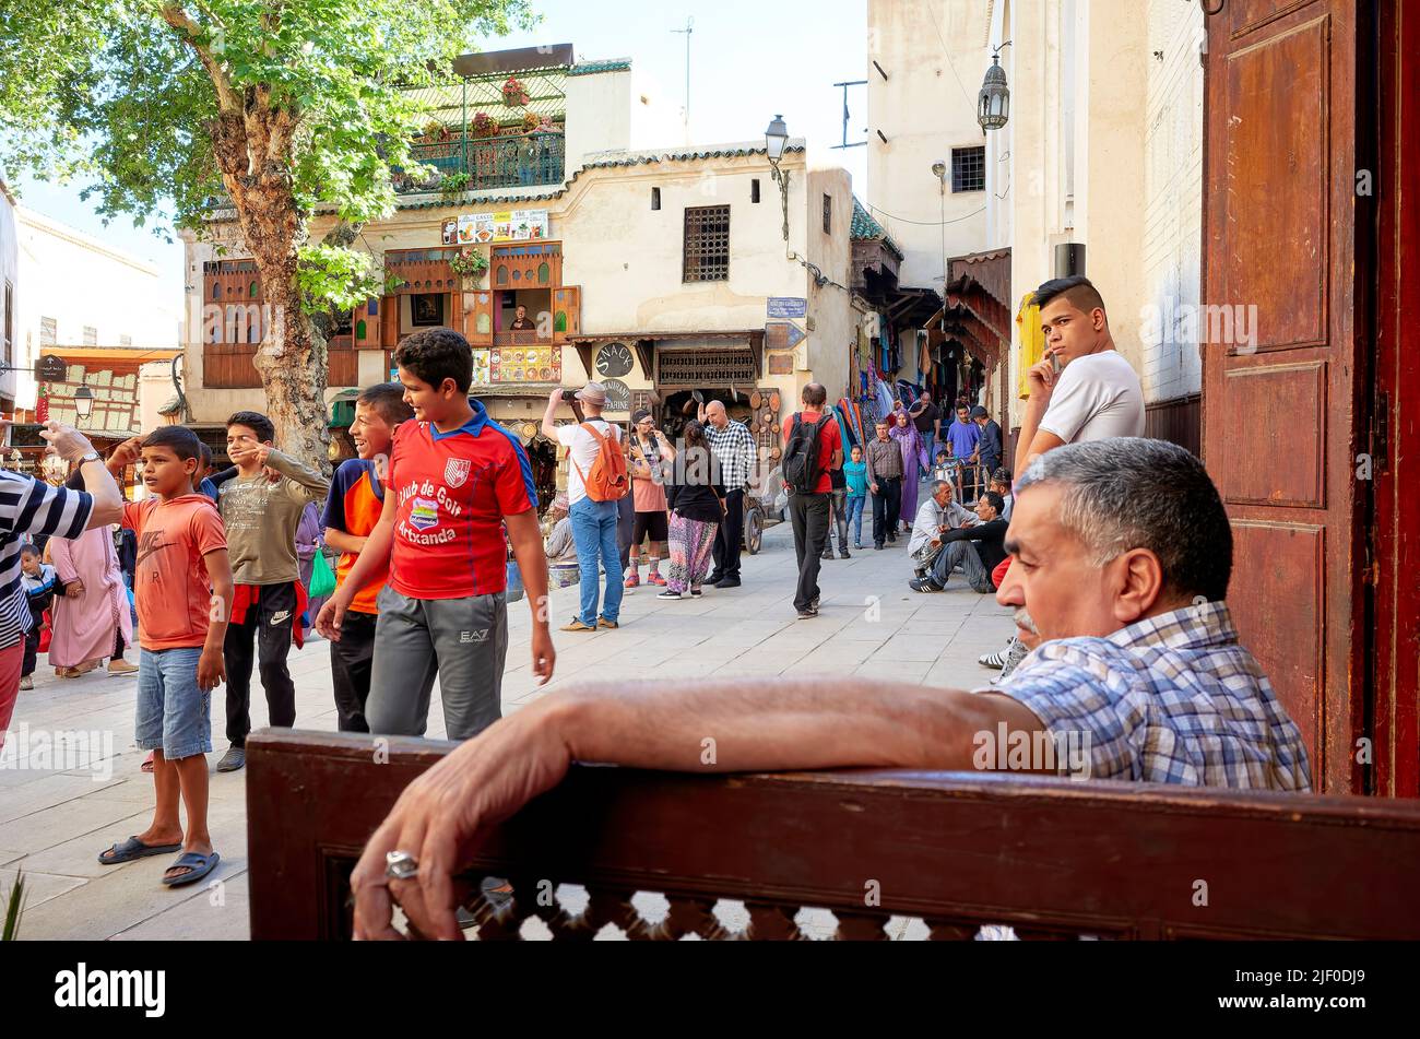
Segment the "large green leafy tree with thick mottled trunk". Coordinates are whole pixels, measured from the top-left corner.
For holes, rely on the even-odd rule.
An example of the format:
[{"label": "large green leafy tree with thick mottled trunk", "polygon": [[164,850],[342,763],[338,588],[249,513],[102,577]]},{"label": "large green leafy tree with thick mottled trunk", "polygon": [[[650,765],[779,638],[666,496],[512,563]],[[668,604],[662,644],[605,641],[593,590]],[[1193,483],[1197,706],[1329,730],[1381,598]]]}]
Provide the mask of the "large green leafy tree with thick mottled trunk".
[{"label": "large green leafy tree with thick mottled trunk", "polygon": [[256,356],[267,410],[324,464],[322,315],[378,292],[359,227],[393,211],[415,88],[531,23],[527,0],[3,0],[0,169],[89,175],[102,216],[199,236],[234,210],[275,314]]}]

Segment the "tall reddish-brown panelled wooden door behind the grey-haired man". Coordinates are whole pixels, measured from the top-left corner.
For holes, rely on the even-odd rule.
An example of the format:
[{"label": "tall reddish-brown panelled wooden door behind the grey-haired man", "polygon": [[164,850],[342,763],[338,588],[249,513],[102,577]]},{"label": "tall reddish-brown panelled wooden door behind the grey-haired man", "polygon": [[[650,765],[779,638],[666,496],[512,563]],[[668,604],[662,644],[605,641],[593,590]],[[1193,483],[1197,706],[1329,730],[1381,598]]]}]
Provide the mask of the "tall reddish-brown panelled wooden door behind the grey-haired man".
[{"label": "tall reddish-brown panelled wooden door behind the grey-haired man", "polygon": [[1356,41],[1356,0],[1208,18],[1204,299],[1233,332],[1221,311],[1200,321],[1204,461],[1242,643],[1338,793],[1360,789],[1363,735]]}]

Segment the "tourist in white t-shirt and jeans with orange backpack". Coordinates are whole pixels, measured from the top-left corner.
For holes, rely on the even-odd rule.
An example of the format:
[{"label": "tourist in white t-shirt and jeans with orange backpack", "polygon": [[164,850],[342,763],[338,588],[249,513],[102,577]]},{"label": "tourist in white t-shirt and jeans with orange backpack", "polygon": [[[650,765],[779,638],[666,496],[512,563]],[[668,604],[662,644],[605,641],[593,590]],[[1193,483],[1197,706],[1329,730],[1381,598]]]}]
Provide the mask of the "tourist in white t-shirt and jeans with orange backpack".
[{"label": "tourist in white t-shirt and jeans with orange backpack", "polygon": [[[567,468],[567,497],[572,507],[572,542],[577,545],[577,562],[581,566],[578,588],[582,602],[578,616],[562,625],[562,630],[595,632],[598,627],[619,626],[623,589],[621,551],[616,544],[616,508],[626,497],[629,475],[621,427],[602,417],[606,389],[599,382],[589,382],[577,392],[575,399],[582,405],[585,420],[575,426],[557,426],[552,423],[552,416],[564,402],[562,390],[552,390],[547,400],[547,412],[542,414],[542,436],[557,440],[571,456]],[[596,613],[601,585],[598,568],[606,575],[606,598],[601,616]]]}]

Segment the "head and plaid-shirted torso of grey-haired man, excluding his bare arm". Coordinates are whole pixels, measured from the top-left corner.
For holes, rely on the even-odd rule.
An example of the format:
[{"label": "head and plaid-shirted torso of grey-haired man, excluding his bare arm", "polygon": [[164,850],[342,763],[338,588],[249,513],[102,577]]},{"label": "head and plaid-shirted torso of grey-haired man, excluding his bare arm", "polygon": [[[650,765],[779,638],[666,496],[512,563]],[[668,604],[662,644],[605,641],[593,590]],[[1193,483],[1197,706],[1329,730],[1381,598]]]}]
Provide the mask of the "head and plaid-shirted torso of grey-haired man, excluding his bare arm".
[{"label": "head and plaid-shirted torso of grey-haired man, excluding his bare arm", "polygon": [[1301,731],[1223,600],[1233,534],[1203,463],[1096,440],[1039,456],[1015,491],[997,602],[1020,608],[1034,649],[978,691],[1028,708],[1056,745],[1088,744],[1093,779],[1311,789]]}]

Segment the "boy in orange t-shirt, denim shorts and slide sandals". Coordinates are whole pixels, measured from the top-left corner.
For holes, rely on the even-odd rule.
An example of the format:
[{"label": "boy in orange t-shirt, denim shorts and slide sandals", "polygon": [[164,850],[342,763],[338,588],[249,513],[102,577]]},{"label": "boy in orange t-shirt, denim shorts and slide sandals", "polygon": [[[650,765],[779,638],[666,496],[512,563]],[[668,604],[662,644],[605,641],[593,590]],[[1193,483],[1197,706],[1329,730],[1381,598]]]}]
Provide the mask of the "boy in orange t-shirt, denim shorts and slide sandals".
[{"label": "boy in orange t-shirt, denim shorts and slide sandals", "polygon": [[[212,498],[195,493],[197,434],[165,426],[121,444],[111,473],[143,460],[149,497],[124,504],[124,527],[138,535],[133,599],[139,619],[136,742],[153,751],[152,825],[102,852],[105,866],[182,849],[163,873],[169,887],[212,873],[220,856],[207,832],[212,690],[223,680],[222,646],[231,603],[227,535]],[[206,576],[204,576],[206,575]],[[183,835],[179,795],[187,810]]]}]

